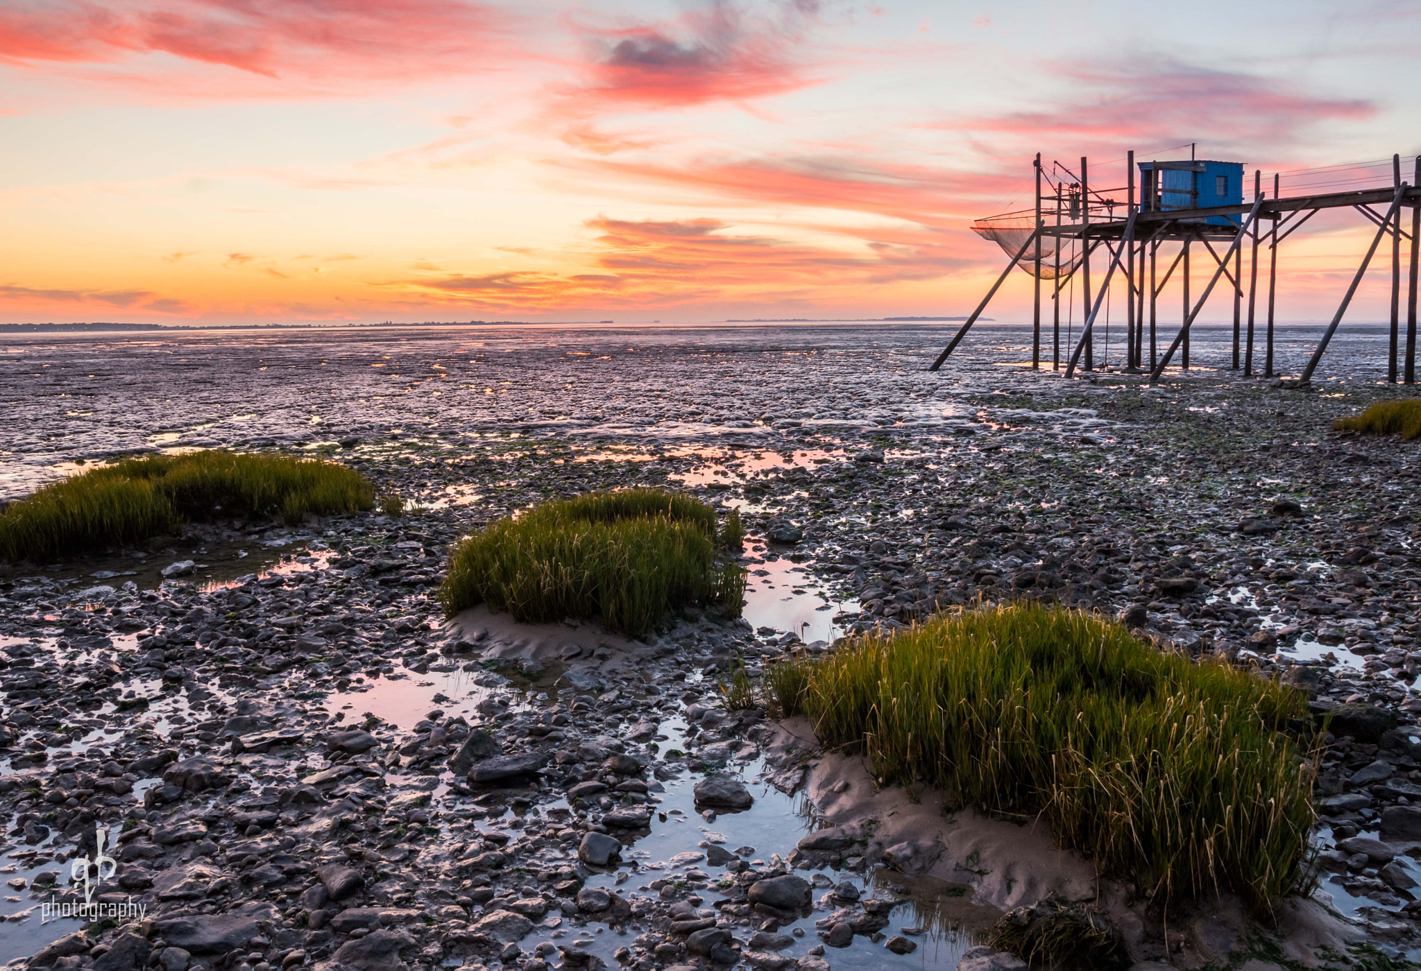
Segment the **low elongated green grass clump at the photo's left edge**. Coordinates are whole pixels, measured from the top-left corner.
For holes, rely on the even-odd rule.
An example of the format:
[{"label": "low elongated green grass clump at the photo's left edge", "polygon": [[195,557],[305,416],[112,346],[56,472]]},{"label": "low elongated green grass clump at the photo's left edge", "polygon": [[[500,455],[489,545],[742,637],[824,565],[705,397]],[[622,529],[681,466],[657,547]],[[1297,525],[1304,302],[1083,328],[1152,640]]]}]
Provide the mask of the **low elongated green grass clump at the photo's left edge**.
[{"label": "low elongated green grass clump at the photo's left edge", "polygon": [[45,486],[0,512],[0,558],[41,559],[144,542],[220,517],[368,510],[374,488],[352,468],[271,454],[145,456]]}]

